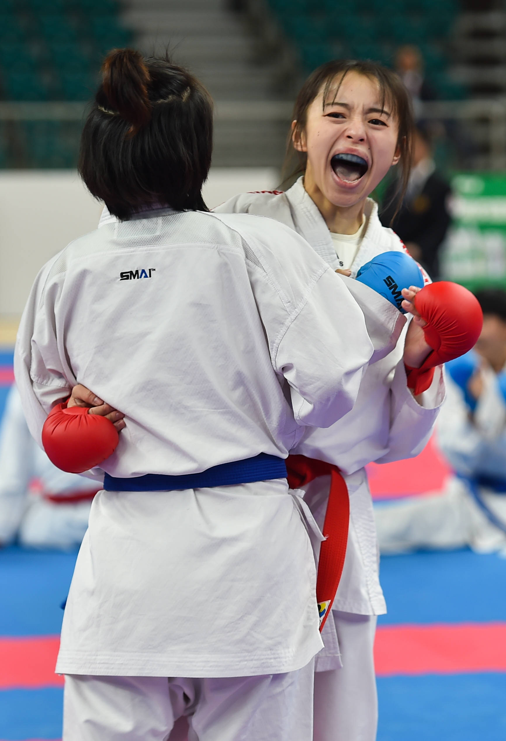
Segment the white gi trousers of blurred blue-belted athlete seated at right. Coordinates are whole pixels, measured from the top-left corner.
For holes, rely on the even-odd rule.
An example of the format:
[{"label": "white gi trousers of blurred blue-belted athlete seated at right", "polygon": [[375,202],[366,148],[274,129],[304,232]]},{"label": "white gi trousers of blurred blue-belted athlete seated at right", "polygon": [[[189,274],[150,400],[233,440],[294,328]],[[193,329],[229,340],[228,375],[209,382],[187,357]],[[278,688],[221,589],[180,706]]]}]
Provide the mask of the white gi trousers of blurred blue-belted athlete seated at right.
[{"label": "white gi trousers of blurred blue-belted athlete seated at right", "polygon": [[[499,520],[506,522],[506,496],[486,490],[482,496]],[[487,519],[465,482],[457,478],[433,496],[413,496],[376,506],[374,516],[383,554],[465,545],[480,553],[506,548],[505,533]]]}]

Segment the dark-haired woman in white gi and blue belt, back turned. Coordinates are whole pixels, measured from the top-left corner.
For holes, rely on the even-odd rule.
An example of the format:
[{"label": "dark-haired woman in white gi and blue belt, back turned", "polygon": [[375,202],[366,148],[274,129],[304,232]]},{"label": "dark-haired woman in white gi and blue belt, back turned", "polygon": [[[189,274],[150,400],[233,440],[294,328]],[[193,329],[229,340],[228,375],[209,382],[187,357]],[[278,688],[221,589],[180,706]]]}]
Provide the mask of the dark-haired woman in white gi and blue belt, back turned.
[{"label": "dark-haired woman in white gi and blue belt, back turned", "polygon": [[207,212],[199,82],[130,50],[102,73],[79,171],[111,216],[41,270],[15,353],[36,439],[78,381],[126,423],[64,612],[63,739],[163,741],[186,713],[199,741],[310,741],[322,536],[284,458],[376,348],[293,230]]}]

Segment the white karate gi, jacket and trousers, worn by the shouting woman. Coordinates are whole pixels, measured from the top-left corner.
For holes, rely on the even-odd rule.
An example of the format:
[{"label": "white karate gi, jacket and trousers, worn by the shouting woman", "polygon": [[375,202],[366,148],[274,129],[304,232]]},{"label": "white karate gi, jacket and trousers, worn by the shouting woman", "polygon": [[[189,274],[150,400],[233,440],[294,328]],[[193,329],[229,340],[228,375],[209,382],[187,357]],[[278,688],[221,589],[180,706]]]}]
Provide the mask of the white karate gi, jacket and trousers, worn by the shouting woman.
[{"label": "white karate gi, jacket and trousers, worn by the shouting woman", "polygon": [[[219,213],[255,213],[276,219],[304,236],[330,268],[339,268],[330,231],[304,190],[302,178],[286,193],[242,193],[215,210]],[[351,266],[352,278],[376,255],[387,250],[404,249],[399,237],[382,226],[378,207],[371,199],[367,199],[365,216],[364,237]],[[358,292],[361,284],[347,279],[346,285],[350,284],[356,287],[356,299],[366,313],[373,342],[375,336],[381,336],[381,325],[385,330],[391,322],[393,327],[396,319],[398,323],[392,339],[397,340],[399,322],[404,323],[405,319],[396,308],[381,296],[373,298],[371,293],[374,292],[362,296]],[[376,316],[376,326],[370,320],[370,313]],[[382,345],[381,341],[379,345]],[[422,394],[420,403],[414,399],[406,385],[403,348],[401,337],[386,356],[379,352],[379,359],[373,357],[353,410],[325,430],[307,429],[291,451],[338,465],[350,494],[346,559],[333,603],[335,624],[327,619],[322,636],[325,648],[316,659],[316,671],[325,672],[316,683],[316,741],[372,741],[376,737],[372,648],[376,615],[385,613],[386,607],[379,585],[373,504],[364,466],[372,461],[386,463],[409,458],[422,451],[445,395],[442,373],[436,369],[433,383]],[[329,477],[322,476],[306,487],[305,499],[320,527],[327,507],[329,482]],[[353,614],[370,616],[370,619],[353,620]],[[346,646],[343,641],[347,641]]]}]

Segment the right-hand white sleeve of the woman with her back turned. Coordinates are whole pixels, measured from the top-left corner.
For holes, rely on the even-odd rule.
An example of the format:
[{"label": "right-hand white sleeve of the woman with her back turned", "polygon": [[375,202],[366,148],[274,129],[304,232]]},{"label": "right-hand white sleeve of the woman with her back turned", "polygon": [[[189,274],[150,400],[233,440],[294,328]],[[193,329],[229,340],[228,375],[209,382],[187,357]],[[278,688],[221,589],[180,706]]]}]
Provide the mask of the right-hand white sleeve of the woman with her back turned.
[{"label": "right-hand white sleeve of the woman with her back turned", "polygon": [[325,428],[349,412],[372,353],[359,305],[325,267],[273,347],[296,422]]}]

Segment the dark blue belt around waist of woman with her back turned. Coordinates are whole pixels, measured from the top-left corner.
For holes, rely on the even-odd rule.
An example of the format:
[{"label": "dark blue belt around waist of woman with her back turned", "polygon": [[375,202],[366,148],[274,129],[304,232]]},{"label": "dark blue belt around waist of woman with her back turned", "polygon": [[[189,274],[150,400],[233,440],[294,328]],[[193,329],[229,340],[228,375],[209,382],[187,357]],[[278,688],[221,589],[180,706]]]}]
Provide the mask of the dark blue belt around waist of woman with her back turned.
[{"label": "dark blue belt around waist of woman with her back turned", "polygon": [[260,453],[254,458],[231,463],[220,463],[201,473],[186,473],[183,476],[164,476],[162,473],[146,473],[133,479],[117,479],[104,476],[105,491],[174,491],[176,489],[202,489],[213,486],[248,484],[253,481],[286,479],[287,466],[284,459]]}]

